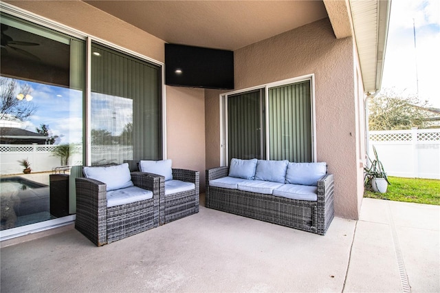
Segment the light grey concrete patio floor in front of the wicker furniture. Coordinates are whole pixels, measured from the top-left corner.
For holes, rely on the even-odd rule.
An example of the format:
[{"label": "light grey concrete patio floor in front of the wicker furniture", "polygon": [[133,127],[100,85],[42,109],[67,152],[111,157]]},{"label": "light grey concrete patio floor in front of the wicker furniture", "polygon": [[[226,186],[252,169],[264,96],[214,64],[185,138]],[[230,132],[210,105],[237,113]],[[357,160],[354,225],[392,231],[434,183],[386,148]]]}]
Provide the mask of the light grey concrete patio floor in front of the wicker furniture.
[{"label": "light grey concrete patio floor in front of the wicker furniture", "polygon": [[[97,248],[1,243],[1,292],[440,292],[440,206],[364,199],[320,236],[205,208]],[[12,239],[13,240],[13,239]],[[19,240],[17,239],[16,242]]]}]

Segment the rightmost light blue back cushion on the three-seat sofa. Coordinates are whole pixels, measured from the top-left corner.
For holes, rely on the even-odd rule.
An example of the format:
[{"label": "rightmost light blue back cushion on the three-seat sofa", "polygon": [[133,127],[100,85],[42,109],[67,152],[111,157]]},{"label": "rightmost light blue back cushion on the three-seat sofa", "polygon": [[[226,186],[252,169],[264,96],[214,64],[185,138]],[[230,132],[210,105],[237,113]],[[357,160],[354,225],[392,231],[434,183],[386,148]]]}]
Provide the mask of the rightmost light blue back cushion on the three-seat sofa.
[{"label": "rightmost light blue back cushion on the three-seat sofa", "polygon": [[289,163],[287,165],[286,183],[318,186],[318,180],[326,173],[325,162]]}]

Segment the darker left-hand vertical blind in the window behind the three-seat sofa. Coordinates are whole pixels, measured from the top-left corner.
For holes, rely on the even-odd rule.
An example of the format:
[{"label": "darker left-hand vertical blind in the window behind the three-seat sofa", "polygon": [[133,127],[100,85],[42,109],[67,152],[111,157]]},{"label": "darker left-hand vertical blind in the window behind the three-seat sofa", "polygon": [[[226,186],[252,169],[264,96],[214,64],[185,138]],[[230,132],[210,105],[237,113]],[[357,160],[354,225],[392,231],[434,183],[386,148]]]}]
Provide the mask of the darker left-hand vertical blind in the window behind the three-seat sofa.
[{"label": "darker left-hand vertical blind in the window behind the three-seat sofa", "polygon": [[228,159],[262,158],[261,91],[228,96]]}]

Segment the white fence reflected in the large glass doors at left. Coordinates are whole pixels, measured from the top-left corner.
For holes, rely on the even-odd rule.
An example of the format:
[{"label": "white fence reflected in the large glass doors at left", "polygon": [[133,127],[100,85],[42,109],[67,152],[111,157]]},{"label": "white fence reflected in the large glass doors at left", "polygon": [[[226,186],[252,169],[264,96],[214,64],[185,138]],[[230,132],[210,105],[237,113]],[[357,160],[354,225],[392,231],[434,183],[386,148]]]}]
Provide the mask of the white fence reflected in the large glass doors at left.
[{"label": "white fence reflected in the large glass doors at left", "polygon": [[[1,175],[23,173],[19,160],[28,158],[32,172],[54,171],[60,167],[60,158],[54,155],[57,144],[0,144],[0,173]],[[91,148],[92,164],[120,164],[124,160],[133,160],[133,146],[100,145]],[[83,147],[75,146],[69,158],[68,165],[83,164]]]}]

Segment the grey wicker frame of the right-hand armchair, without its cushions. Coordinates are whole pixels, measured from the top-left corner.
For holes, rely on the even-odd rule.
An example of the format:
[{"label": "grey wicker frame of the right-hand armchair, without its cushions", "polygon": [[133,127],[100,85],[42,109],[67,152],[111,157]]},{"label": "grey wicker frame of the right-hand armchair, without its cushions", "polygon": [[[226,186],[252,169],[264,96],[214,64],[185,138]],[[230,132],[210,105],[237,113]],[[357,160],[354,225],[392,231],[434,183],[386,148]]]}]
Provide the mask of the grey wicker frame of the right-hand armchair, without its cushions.
[{"label": "grey wicker frame of the right-hand armchair, without its cushions", "polygon": [[[192,182],[195,189],[181,193],[164,195],[164,188],[159,192],[159,224],[163,225],[183,217],[199,213],[200,173],[186,169],[173,168],[173,180]],[[164,177],[161,176],[161,182]],[[162,184],[161,184],[162,186]]]}]

